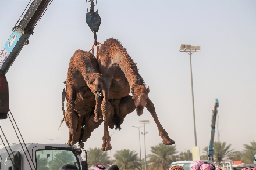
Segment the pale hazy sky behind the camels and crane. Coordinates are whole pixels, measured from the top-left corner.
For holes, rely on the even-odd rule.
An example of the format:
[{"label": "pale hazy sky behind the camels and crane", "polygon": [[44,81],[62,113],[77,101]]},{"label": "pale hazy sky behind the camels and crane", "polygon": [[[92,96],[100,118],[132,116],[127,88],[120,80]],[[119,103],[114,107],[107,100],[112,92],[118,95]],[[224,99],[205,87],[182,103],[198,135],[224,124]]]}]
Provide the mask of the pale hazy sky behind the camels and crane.
[{"label": "pale hazy sky behind the camels and crane", "polygon": [[[29,1],[0,0],[0,48]],[[98,0],[98,41],[117,38],[137,63],[150,86],[159,121],[178,151],[194,146],[189,55],[180,44],[200,45],[193,53],[195,121],[200,151],[208,146],[211,115],[219,99],[221,142],[241,151],[256,140],[256,1],[112,1]],[[88,6],[90,4],[88,3]],[[29,38],[6,78],[9,104],[25,142],[67,142],[61,95],[70,57],[90,50],[93,33],[86,23],[86,1],[54,0]],[[122,130],[109,129],[112,158],[116,150],[139,153],[139,120],[149,120],[146,150],[162,142],[150,113],[127,115]],[[18,143],[9,120],[1,126],[10,143]],[[143,128],[141,128],[141,131]],[[85,143],[101,147],[103,124]],[[216,133],[217,134],[217,133]],[[215,140],[218,136],[215,135]],[[109,153],[109,151],[108,151]],[[141,135],[144,158],[144,136]]]}]

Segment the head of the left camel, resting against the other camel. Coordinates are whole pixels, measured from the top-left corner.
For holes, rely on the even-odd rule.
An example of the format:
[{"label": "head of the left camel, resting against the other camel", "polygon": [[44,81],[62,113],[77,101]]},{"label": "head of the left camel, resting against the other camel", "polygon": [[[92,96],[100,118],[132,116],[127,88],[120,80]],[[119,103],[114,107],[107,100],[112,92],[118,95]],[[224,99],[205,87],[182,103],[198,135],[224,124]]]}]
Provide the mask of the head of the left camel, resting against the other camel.
[{"label": "head of the left camel, resting against the other camel", "polygon": [[99,73],[86,75],[86,84],[91,89],[91,92],[94,93],[96,97],[102,97],[102,89],[103,89],[103,78]]}]

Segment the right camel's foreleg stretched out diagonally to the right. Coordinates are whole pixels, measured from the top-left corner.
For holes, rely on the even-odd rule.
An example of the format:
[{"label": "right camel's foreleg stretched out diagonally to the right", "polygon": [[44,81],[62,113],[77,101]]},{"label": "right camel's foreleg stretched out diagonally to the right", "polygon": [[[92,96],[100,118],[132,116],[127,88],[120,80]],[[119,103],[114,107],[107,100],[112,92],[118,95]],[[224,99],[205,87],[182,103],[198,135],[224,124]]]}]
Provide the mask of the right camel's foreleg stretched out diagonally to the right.
[{"label": "right camel's foreleg stretched out diagonally to the right", "polygon": [[146,107],[147,107],[147,110],[151,113],[152,117],[154,118],[155,124],[157,124],[159,136],[161,136],[161,138],[163,139],[163,144],[166,144],[166,145],[175,144],[174,140],[169,138],[167,132],[165,131],[165,129],[163,129],[162,125],[160,124],[157,118],[157,113],[155,112],[154,104],[150,99],[147,100]]}]

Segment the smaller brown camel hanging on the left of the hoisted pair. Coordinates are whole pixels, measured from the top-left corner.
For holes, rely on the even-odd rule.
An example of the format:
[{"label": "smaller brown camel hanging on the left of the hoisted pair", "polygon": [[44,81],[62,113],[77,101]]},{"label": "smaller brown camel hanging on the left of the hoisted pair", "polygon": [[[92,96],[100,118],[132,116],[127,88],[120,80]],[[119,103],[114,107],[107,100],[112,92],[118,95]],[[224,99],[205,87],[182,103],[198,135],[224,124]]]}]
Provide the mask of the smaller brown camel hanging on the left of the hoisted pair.
[{"label": "smaller brown camel hanging on the left of the hoisted pair", "polygon": [[[83,104],[76,104],[77,92],[80,90],[82,96],[87,97],[87,100],[77,100],[77,102],[86,102],[87,108],[81,110],[80,115],[90,113],[91,107],[94,109],[94,121],[101,121],[101,99],[103,90],[102,75],[99,74],[97,59],[90,53],[83,50],[76,50],[70,59],[69,69],[66,79],[66,93],[67,110],[65,113],[65,122],[69,127],[69,140],[68,145],[75,144],[79,138],[79,114],[76,113],[75,108]],[[93,93],[91,95],[90,93]],[[76,107],[75,107],[76,106]],[[90,108],[90,109],[89,109]],[[79,108],[77,108],[79,110]],[[79,129],[77,129],[79,128]]]}]

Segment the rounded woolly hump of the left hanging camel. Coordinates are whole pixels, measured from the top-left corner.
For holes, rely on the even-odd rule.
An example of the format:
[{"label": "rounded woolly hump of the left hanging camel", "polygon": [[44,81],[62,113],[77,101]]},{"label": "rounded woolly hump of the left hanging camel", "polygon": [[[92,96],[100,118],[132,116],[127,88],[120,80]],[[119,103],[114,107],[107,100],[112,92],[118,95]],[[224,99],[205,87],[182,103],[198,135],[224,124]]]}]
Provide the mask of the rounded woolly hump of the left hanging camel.
[{"label": "rounded woolly hump of the left hanging camel", "polygon": [[74,70],[86,73],[99,72],[98,62],[94,55],[90,52],[78,49],[70,59],[70,65]]}]

